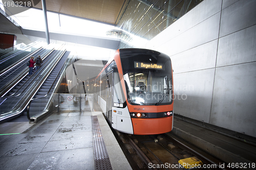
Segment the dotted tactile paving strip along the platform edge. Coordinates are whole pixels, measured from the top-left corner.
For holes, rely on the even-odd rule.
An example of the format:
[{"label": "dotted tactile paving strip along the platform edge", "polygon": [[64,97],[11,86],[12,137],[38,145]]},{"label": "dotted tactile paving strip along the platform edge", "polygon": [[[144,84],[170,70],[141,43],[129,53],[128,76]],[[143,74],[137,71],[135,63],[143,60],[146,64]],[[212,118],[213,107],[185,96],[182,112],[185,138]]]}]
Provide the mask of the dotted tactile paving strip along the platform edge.
[{"label": "dotted tactile paving strip along the platform edge", "polygon": [[109,154],[106,151],[105,142],[102,138],[97,116],[91,116],[93,130],[93,149],[95,169],[112,169]]}]

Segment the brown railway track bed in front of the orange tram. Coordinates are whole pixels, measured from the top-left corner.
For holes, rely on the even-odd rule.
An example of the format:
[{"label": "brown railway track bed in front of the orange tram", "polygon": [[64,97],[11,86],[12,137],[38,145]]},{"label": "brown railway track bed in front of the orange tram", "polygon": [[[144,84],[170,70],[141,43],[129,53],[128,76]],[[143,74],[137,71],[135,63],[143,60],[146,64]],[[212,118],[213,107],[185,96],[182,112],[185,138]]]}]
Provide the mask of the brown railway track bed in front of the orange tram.
[{"label": "brown railway track bed in front of the orange tram", "polygon": [[[183,163],[188,169],[228,169],[220,160],[182,141],[172,133],[160,135],[128,135],[116,131],[121,147],[130,157],[133,169],[187,169],[179,160],[196,157],[202,164],[197,166]],[[196,158],[193,158],[194,160]]]}]

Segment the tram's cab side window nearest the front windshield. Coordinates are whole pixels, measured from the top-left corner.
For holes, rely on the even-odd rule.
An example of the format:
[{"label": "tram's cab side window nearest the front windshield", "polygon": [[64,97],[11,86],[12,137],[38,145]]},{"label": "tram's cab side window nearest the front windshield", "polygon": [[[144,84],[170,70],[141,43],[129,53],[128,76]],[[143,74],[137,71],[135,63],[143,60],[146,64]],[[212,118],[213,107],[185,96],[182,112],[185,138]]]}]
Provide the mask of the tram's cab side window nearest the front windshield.
[{"label": "tram's cab side window nearest the front windshield", "polygon": [[114,72],[114,103],[123,104],[125,102],[122,85],[118,72]]}]

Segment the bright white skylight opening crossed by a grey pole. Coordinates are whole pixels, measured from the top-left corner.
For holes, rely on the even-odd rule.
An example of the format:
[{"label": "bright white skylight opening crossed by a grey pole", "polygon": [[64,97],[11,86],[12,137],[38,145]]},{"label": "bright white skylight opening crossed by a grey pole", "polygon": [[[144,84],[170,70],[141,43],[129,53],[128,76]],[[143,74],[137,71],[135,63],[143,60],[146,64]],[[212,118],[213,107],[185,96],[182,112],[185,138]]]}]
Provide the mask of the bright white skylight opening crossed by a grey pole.
[{"label": "bright white skylight opening crossed by a grey pole", "polygon": [[[11,17],[24,29],[45,31],[44,13],[40,9],[30,8]],[[115,29],[115,26],[105,23],[49,11],[47,19],[49,32],[54,33],[106,37],[107,31]]]}]

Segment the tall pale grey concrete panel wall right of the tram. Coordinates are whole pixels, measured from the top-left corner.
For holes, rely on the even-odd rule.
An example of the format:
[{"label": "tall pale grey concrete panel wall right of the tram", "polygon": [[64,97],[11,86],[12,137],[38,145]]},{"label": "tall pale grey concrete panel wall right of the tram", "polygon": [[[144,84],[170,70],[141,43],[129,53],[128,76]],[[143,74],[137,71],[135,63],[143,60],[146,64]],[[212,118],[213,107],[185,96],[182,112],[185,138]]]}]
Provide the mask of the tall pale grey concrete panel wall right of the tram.
[{"label": "tall pale grey concrete panel wall right of the tram", "polygon": [[174,69],[174,112],[256,137],[256,1],[204,0],[145,47]]}]

